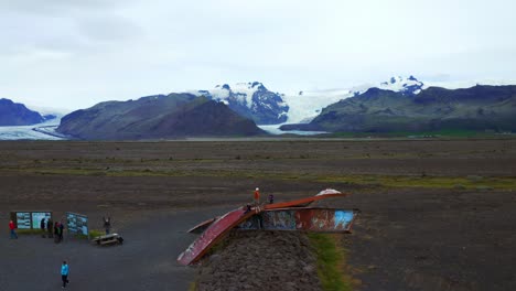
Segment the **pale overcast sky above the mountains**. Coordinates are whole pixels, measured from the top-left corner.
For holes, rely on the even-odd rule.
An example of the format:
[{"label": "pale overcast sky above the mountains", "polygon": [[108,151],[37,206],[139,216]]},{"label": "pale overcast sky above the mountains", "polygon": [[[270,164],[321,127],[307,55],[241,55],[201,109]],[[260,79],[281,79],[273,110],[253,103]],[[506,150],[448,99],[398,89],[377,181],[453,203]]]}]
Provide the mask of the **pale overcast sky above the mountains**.
[{"label": "pale overcast sky above the mountains", "polygon": [[516,78],[513,0],[0,0],[0,97],[103,100]]}]

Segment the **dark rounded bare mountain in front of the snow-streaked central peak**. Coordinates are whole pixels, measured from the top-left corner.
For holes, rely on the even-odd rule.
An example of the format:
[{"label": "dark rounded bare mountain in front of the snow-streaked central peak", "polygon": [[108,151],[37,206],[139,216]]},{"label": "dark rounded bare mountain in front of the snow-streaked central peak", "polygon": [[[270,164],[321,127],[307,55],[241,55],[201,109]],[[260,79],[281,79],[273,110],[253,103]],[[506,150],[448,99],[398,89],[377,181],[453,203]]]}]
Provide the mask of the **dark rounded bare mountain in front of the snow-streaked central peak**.
[{"label": "dark rounded bare mountain in front of the snow-streaked central peak", "polygon": [[86,140],[264,134],[226,105],[191,94],[100,103],[62,118],[57,132]]}]

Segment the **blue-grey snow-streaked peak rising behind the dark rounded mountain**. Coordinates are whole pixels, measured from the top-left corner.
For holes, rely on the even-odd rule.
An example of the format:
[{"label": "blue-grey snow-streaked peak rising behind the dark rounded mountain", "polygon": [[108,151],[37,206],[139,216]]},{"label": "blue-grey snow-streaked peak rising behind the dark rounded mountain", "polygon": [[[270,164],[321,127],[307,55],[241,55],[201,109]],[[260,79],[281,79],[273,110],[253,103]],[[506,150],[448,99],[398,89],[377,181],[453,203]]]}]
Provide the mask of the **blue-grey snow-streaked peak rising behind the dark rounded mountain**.
[{"label": "blue-grey snow-streaked peak rising behind the dark rounded mountain", "polygon": [[252,119],[257,125],[287,121],[289,106],[283,95],[268,90],[259,82],[218,85],[211,90],[189,91],[226,104],[232,110]]}]

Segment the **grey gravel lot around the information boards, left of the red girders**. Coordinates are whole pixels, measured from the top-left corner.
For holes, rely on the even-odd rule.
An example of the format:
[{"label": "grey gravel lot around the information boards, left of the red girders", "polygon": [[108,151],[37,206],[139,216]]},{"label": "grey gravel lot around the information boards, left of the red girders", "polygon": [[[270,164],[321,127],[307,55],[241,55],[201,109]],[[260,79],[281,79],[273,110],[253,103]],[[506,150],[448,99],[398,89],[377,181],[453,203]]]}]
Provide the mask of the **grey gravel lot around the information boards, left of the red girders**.
[{"label": "grey gravel lot around the information boards, left of the red girders", "polygon": [[11,240],[6,230],[0,237],[0,290],[58,290],[64,259],[71,268],[68,290],[187,290],[195,269],[176,263],[178,255],[195,238],[185,230],[221,212],[157,214],[121,229],[126,241],[112,247],[66,237],[62,244],[32,235]]}]

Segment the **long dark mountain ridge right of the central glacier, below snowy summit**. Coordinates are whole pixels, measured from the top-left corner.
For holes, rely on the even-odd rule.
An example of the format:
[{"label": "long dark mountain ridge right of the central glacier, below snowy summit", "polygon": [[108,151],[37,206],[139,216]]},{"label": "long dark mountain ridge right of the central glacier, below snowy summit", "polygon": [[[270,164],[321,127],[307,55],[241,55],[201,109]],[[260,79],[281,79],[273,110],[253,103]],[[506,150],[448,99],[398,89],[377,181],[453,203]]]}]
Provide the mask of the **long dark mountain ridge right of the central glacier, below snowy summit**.
[{"label": "long dark mountain ridge right of the central glacier, below snowy summit", "polygon": [[516,130],[516,86],[430,87],[419,94],[370,88],[324,108],[308,125],[283,130],[386,132]]}]

